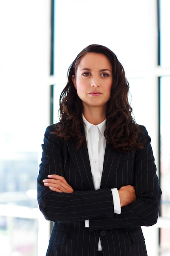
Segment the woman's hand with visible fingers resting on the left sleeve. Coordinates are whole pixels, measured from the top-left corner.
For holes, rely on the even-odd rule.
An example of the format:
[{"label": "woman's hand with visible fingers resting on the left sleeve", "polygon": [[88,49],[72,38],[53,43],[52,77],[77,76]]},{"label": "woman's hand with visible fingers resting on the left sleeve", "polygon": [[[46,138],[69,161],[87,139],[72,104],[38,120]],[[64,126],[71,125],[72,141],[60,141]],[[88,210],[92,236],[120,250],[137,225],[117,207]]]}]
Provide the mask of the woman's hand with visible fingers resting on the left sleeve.
[{"label": "woman's hand with visible fingers resting on the left sleeve", "polygon": [[72,187],[66,182],[64,177],[56,174],[48,175],[49,179],[43,180],[44,186],[55,192],[73,193]]}]

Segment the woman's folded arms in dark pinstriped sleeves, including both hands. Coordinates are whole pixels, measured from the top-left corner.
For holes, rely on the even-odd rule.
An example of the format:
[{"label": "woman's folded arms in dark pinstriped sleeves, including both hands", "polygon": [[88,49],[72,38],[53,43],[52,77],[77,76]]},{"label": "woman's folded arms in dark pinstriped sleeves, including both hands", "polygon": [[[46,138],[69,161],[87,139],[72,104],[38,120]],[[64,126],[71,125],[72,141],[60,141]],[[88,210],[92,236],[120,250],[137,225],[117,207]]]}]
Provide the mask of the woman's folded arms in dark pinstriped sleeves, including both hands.
[{"label": "woman's folded arms in dark pinstriped sleeves, including both hands", "polygon": [[[90,228],[95,230],[98,228],[150,226],[156,223],[161,190],[156,175],[150,138],[146,130],[144,130],[146,146],[135,155],[134,182],[132,183],[135,188],[126,185],[118,190],[122,207],[121,214],[113,214],[114,202],[110,188],[88,189],[88,191],[78,189],[76,191],[66,182],[62,177],[64,176],[62,156],[63,152],[68,149],[67,144],[64,148],[63,142],[51,135],[51,131],[53,131],[52,126],[47,129],[44,137],[42,163],[38,175],[38,203],[47,220],[72,222],[89,219]],[[54,155],[58,157],[54,158]],[[58,171],[56,171],[56,167]],[[49,173],[59,175],[49,176]],[[72,181],[74,182],[73,179]],[[77,211],[77,209],[79,210]],[[96,216],[97,219],[95,219]],[[98,218],[99,216],[102,218]]]}]

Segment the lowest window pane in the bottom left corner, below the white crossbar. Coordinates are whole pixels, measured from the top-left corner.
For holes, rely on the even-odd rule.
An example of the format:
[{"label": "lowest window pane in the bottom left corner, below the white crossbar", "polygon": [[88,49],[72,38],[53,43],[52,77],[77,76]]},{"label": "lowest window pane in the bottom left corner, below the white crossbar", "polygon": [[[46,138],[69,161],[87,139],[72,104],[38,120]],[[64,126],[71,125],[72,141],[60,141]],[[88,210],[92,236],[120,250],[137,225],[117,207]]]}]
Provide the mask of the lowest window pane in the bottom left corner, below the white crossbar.
[{"label": "lowest window pane in the bottom left corner, below the white crossbar", "polygon": [[0,216],[0,241],[2,243],[0,255],[37,256],[37,234],[38,220],[36,219]]}]

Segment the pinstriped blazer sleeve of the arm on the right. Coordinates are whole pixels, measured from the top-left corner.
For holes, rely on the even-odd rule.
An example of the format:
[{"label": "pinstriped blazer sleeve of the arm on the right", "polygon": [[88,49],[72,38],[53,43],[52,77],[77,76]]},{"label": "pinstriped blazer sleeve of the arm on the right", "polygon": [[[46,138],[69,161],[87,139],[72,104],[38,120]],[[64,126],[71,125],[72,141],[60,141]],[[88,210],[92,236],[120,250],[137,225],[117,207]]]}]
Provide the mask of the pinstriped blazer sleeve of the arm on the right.
[{"label": "pinstriped blazer sleeve of the arm on the right", "polygon": [[114,217],[90,220],[91,231],[135,226],[151,226],[157,222],[161,198],[161,189],[156,174],[155,159],[150,145],[150,137],[144,126],[141,126],[141,140],[145,141],[143,149],[135,154],[134,186],[137,199],[121,208],[121,214]]}]

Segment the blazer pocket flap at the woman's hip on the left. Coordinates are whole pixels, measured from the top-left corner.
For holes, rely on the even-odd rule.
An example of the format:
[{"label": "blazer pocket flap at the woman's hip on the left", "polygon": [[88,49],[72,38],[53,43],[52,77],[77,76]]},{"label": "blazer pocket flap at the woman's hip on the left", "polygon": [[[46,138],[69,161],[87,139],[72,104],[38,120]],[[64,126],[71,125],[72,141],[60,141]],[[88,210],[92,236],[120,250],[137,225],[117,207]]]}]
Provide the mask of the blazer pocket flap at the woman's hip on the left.
[{"label": "blazer pocket flap at the woman's hip on the left", "polygon": [[58,229],[53,229],[51,231],[51,236],[49,243],[57,244],[57,245],[64,245],[70,233],[67,231],[62,231]]}]

